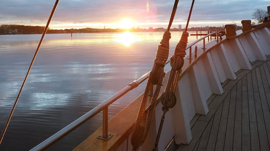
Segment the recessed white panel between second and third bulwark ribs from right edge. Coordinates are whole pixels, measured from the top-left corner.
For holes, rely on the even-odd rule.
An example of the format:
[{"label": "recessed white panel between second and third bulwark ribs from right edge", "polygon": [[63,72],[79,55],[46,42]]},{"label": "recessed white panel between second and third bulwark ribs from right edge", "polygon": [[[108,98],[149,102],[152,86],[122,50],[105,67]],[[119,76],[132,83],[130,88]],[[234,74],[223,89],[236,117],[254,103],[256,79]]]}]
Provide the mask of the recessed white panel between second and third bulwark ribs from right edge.
[{"label": "recessed white panel between second and third bulwark ribs from right edge", "polygon": [[256,61],[257,60],[256,56],[255,56],[251,46],[249,45],[248,40],[245,37],[245,35],[242,35],[242,36],[238,37],[238,39],[239,39],[240,44],[242,45],[242,47],[243,47],[243,49],[244,49],[244,51],[245,51],[245,53],[247,55],[249,61],[250,62]]}]

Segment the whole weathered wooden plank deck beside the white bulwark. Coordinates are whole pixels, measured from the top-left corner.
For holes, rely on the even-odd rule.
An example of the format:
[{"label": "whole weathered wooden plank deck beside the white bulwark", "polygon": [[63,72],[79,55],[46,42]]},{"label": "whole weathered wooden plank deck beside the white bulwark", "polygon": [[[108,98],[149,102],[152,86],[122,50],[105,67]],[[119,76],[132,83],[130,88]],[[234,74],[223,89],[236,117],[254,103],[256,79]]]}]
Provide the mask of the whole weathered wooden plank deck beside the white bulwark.
[{"label": "whole weathered wooden plank deck beside the white bulwark", "polygon": [[239,70],[226,80],[222,95],[208,100],[209,113],[190,122],[192,141],[184,150],[270,150],[270,55],[252,70]]}]

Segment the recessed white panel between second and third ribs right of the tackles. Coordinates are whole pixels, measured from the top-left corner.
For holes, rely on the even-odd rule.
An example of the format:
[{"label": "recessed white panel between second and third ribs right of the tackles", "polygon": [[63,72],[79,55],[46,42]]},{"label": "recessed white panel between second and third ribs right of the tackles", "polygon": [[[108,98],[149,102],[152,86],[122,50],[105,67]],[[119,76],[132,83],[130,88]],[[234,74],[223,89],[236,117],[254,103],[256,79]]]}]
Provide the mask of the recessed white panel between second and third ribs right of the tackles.
[{"label": "recessed white panel between second and third ribs right of the tackles", "polygon": [[210,86],[210,82],[208,80],[208,75],[206,73],[206,69],[204,67],[203,59],[198,60],[196,63],[198,74],[199,74],[199,80],[201,82],[201,89],[203,90],[205,99],[207,100],[213,93]]}]

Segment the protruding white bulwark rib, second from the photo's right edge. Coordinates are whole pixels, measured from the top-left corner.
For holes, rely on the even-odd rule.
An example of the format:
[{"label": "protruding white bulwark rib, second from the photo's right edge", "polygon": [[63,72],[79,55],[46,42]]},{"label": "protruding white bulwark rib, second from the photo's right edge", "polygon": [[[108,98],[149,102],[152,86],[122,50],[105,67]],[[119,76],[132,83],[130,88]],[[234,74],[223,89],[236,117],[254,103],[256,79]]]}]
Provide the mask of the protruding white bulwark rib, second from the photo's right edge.
[{"label": "protruding white bulwark rib, second from the photo's right edge", "polygon": [[255,37],[254,33],[247,33],[244,35],[248,41],[248,44],[251,47],[251,50],[253,51],[254,55],[256,56],[257,60],[265,61],[266,56],[265,52],[262,50],[261,45],[259,44],[258,39]]}]

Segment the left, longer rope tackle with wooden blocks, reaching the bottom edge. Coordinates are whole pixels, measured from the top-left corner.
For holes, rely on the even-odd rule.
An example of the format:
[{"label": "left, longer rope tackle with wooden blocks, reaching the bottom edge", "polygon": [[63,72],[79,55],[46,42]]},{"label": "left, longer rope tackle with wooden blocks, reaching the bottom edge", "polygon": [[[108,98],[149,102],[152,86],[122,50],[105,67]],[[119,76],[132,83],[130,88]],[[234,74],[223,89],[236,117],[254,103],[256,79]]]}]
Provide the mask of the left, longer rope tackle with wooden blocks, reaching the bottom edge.
[{"label": "left, longer rope tackle with wooden blocks, reaching the bottom edge", "polygon": [[[136,123],[134,126],[134,132],[131,135],[131,145],[133,146],[133,149],[132,149],[133,151],[137,151],[138,148],[141,145],[143,145],[143,142],[146,139],[147,133],[149,131],[150,122],[153,118],[153,113],[154,113],[154,109],[156,106],[157,97],[159,95],[159,92],[160,92],[160,89],[161,89],[161,86],[163,83],[163,77],[165,76],[164,66],[165,66],[166,61],[168,59],[169,48],[170,48],[169,40],[171,38],[171,33],[169,31],[170,31],[171,24],[173,23],[173,19],[174,19],[174,15],[176,13],[178,1],[179,0],[175,0],[175,2],[174,2],[174,7],[173,7],[173,11],[171,13],[171,18],[169,21],[167,31],[164,32],[163,38],[160,42],[160,45],[158,46],[156,59],[154,60],[154,66],[149,74],[149,78],[148,78],[147,83],[146,83],[145,91],[144,91],[143,98],[142,98],[141,104],[140,104],[140,109],[139,109]],[[153,84],[153,85],[157,84],[157,86],[155,88],[153,97],[150,98],[149,106],[147,107],[146,110],[144,110],[146,107],[146,101],[148,98],[148,93],[149,93],[151,84]],[[140,125],[140,123],[142,122],[142,118],[144,116],[144,113],[147,114],[147,117],[146,117],[145,125],[142,126],[142,125]]]}]

